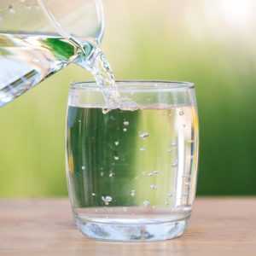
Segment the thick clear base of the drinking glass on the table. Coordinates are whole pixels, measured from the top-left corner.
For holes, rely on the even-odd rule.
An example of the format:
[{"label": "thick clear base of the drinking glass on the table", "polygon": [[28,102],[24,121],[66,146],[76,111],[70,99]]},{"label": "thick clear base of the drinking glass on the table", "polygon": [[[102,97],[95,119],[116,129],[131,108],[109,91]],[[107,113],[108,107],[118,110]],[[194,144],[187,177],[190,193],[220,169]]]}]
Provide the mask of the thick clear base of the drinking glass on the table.
[{"label": "thick clear base of the drinking glass on the table", "polygon": [[[181,236],[185,230],[189,218],[177,221],[143,221],[137,220],[132,223],[127,220],[115,221],[109,219],[106,222],[94,222],[91,219],[75,217],[79,230],[85,236],[102,241],[161,241]],[[130,220],[131,221],[131,220]]]}]

